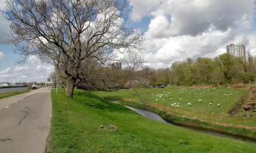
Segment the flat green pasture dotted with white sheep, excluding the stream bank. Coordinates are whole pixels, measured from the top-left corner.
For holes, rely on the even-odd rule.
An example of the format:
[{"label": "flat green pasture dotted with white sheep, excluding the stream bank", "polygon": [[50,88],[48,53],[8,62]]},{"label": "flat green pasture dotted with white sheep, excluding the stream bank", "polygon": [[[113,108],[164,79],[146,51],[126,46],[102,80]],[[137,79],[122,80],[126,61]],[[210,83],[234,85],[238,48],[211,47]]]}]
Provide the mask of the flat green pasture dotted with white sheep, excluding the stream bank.
[{"label": "flat green pasture dotted with white sheep, excluding the stream bank", "polygon": [[[249,90],[232,88],[152,88],[140,89],[140,99],[129,94],[127,90],[119,92],[94,92],[98,96],[108,99],[125,99],[144,103],[156,107],[159,110],[165,110],[179,116],[198,119],[200,121],[218,122],[222,124],[246,126],[248,128],[256,127],[256,112],[250,118],[246,118],[246,112],[241,105],[246,103]],[[132,91],[130,91],[132,93]],[[158,101],[157,101],[158,100]],[[201,100],[201,102],[199,101]],[[212,101],[212,105],[209,103]],[[175,104],[171,106],[172,104]],[[180,104],[177,107],[177,104]],[[191,103],[192,105],[188,105]],[[220,104],[220,107],[218,107]],[[133,105],[136,107],[136,105]]]}]

